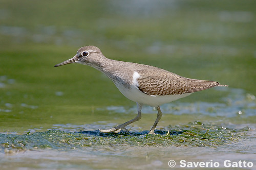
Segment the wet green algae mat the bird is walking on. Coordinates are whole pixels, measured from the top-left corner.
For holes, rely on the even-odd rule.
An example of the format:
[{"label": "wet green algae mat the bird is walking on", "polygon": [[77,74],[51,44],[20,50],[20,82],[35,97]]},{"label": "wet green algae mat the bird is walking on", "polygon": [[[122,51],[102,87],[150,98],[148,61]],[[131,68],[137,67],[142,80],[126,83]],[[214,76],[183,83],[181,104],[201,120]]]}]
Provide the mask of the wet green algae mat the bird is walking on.
[{"label": "wet green algae mat the bird is walking on", "polygon": [[[200,122],[183,126],[166,127],[156,130],[157,135],[147,135],[147,131],[120,133],[101,133],[97,131],[65,132],[49,130],[24,135],[0,134],[2,152],[16,153],[26,150],[69,150],[94,149],[111,150],[118,147],[216,147],[238,140],[250,128],[230,129]],[[242,132],[242,133],[241,133]],[[106,147],[107,146],[107,147]],[[103,148],[102,148],[103,147]]]}]

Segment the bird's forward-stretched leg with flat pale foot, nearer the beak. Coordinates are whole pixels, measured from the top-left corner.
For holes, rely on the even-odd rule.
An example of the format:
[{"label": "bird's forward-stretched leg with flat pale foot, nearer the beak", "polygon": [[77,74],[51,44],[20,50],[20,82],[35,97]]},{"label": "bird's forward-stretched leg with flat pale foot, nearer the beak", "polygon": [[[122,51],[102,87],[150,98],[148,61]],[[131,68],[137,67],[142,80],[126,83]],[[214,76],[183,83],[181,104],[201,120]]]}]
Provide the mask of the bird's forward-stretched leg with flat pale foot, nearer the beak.
[{"label": "bird's forward-stretched leg with flat pale foot, nearer the beak", "polygon": [[[100,131],[100,132],[103,132],[103,133],[109,133],[109,132],[118,133],[118,132],[120,132],[122,129],[125,129],[126,131],[128,131],[125,127],[126,127],[127,125],[130,125],[130,124],[132,124],[132,123],[138,121],[138,120],[141,118],[142,104],[137,103],[137,109],[138,109],[138,115],[137,115],[135,118],[129,120],[128,122],[125,122],[124,124],[118,125],[118,126],[116,126],[116,127],[114,127],[114,128],[107,129],[107,130],[102,130],[102,129],[100,129],[99,131]],[[161,118],[161,117],[160,117],[160,118]],[[160,118],[159,118],[159,119],[160,119]]]}]

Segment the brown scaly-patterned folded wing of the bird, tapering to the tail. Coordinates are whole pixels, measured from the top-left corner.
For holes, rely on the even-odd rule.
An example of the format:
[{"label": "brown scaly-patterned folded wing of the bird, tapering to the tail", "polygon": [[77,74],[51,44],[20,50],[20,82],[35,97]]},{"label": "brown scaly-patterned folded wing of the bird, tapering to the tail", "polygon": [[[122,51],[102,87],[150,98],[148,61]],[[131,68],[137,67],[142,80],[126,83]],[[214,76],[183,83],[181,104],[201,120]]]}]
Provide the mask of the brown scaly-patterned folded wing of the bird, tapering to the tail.
[{"label": "brown scaly-patterned folded wing of the bird, tapering to the tail", "polygon": [[170,95],[191,93],[215,86],[223,86],[215,81],[188,79],[166,70],[143,69],[137,71],[139,90],[148,95]]}]

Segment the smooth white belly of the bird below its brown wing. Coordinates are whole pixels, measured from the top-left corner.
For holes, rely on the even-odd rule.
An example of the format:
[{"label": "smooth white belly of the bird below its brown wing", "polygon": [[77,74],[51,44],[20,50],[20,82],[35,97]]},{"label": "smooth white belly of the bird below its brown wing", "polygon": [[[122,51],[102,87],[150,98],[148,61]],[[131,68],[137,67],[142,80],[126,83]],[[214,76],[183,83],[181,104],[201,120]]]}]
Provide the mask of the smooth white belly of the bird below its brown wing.
[{"label": "smooth white belly of the bird below its brown wing", "polygon": [[145,104],[149,106],[160,106],[165,103],[176,101],[180,98],[190,95],[191,93],[185,94],[174,94],[174,95],[148,95],[140,91],[136,86],[130,86],[125,88],[122,84],[114,82],[119,91],[131,101]]}]

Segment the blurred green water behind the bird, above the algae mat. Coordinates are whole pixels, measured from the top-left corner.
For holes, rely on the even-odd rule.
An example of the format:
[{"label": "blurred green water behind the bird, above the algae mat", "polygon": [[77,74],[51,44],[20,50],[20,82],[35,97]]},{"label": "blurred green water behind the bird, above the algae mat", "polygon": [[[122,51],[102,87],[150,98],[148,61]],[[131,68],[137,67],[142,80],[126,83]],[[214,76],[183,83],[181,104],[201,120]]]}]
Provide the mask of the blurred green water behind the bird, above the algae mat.
[{"label": "blurred green water behind the bird, above the algae mat", "polygon": [[[255,94],[255,13],[255,1],[1,0],[0,132],[123,123],[135,116],[97,110],[135,106],[99,71],[79,64],[53,67],[85,45],[111,59]],[[224,94],[209,89],[180,102],[221,102]],[[150,127],[155,116],[142,123]],[[190,120],[176,124],[182,121]]]}]

